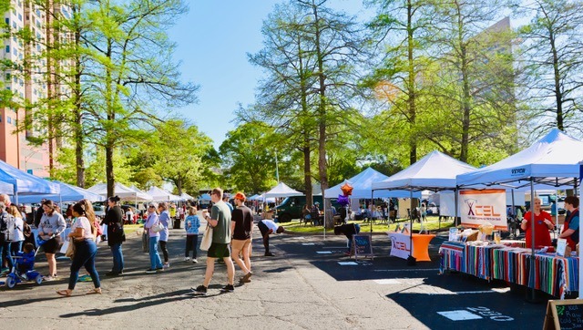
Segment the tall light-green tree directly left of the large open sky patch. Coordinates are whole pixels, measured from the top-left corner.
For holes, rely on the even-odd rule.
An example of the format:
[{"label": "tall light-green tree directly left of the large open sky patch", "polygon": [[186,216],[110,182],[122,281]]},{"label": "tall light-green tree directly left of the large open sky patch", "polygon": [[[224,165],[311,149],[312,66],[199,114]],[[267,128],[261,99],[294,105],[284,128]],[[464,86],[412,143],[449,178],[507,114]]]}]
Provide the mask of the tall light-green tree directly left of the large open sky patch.
[{"label": "tall light-green tree directly left of the large open sky patch", "polygon": [[96,60],[87,65],[94,93],[90,108],[93,142],[106,152],[107,194],[113,194],[116,146],[136,138],[136,128],[156,122],[154,110],[195,101],[197,86],[181,84],[172,59],[176,45],[167,27],[186,6],[181,0],[99,0],[90,8],[91,29],[85,42]]}]

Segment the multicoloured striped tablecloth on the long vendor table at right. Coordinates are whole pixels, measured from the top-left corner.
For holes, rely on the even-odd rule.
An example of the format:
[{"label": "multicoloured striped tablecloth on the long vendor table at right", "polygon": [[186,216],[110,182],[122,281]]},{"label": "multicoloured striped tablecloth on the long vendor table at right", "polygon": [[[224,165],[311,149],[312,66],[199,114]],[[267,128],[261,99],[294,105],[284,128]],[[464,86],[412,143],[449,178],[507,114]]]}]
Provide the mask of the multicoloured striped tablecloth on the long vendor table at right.
[{"label": "multicoloured striped tablecloth on the long vendor table at right", "polygon": [[444,242],[439,248],[440,271],[469,273],[485,280],[503,280],[552,294],[561,299],[578,291],[578,257],[557,257],[502,245],[476,246]]}]

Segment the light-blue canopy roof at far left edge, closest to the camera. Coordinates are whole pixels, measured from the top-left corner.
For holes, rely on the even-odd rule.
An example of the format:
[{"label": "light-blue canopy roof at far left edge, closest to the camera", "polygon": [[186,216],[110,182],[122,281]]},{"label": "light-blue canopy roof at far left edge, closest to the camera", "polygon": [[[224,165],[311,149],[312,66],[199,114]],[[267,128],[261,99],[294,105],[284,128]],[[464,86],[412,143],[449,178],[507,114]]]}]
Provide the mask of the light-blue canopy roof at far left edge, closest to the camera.
[{"label": "light-blue canopy roof at far left edge, closest to the camera", "polygon": [[28,174],[24,170],[18,170],[2,160],[0,160],[0,181],[14,187],[16,204],[19,202],[18,196],[20,195],[58,194],[61,191],[58,184]]}]

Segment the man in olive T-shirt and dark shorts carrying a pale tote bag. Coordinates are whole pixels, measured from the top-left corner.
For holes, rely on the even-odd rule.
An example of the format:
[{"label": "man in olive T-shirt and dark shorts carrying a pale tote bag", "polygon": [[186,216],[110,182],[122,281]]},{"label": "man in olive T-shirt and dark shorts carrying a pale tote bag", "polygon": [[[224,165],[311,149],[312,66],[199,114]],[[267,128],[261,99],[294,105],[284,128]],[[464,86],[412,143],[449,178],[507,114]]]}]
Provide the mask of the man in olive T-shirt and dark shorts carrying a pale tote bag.
[{"label": "man in olive T-shirt and dark shorts carrying a pale tote bag", "polygon": [[215,260],[222,258],[227,266],[228,284],[220,292],[232,293],[235,291],[233,286],[235,280],[235,266],[230,259],[230,209],[224,201],[221,201],[222,190],[215,188],[210,194],[210,199],[214,203],[210,209],[210,216],[207,215],[207,222],[212,227],[212,243],[207,253],[207,270],[204,274],[203,284],[193,289],[198,294],[207,294],[210,279],[215,270]]}]

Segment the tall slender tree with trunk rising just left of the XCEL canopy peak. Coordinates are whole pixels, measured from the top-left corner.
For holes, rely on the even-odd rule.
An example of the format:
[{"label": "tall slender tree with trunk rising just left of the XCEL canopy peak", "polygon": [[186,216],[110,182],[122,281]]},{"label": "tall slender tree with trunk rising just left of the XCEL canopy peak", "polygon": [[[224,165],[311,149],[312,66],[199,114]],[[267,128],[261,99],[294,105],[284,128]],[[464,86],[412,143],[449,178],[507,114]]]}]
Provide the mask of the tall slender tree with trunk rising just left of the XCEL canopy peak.
[{"label": "tall slender tree with trunk rising just left of the XCEL canopy peak", "polygon": [[[408,132],[409,164],[417,161],[418,134],[416,128],[419,107],[417,105],[424,71],[429,17],[424,13],[424,0],[370,0],[377,7],[377,15],[369,23],[375,39],[384,41],[383,63],[374,70],[368,85],[376,89],[376,95],[386,100],[394,114],[392,123],[404,119]],[[399,98],[396,98],[396,97]],[[396,120],[395,120],[396,119]],[[402,125],[391,125],[402,128]]]}]

